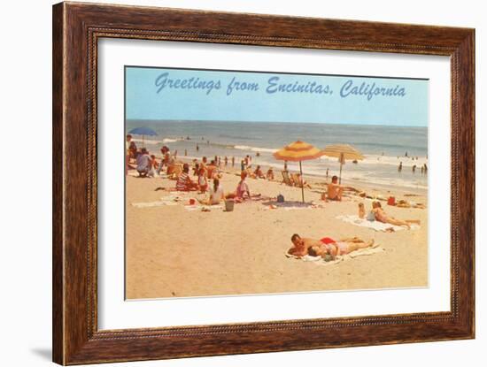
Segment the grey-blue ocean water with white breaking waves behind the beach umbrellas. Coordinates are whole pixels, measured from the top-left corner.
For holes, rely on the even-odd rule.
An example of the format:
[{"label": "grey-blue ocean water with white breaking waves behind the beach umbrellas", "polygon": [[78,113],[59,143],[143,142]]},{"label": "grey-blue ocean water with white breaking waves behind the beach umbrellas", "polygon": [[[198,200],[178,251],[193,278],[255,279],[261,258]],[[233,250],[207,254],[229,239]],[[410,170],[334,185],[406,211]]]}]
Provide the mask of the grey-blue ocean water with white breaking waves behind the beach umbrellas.
[{"label": "grey-blue ocean water with white breaking waves behind the beach umbrellas", "polygon": [[[342,179],[347,182],[367,182],[398,187],[428,187],[428,175],[421,174],[421,165],[428,164],[428,128],[403,126],[357,126],[307,123],[233,122],[233,121],[155,121],[127,120],[126,131],[138,126],[151,127],[156,136],[144,137],[145,146],[153,154],[168,146],[178,156],[236,157],[236,165],[246,155],[252,164],[282,169],[283,162],[272,153],[292,141],[306,141],[323,149],[329,144],[350,144],[366,157],[353,164],[344,164]],[[134,136],[141,141],[141,136]],[[197,145],[199,151],[197,151]],[[259,152],[259,157],[256,153]],[[407,153],[408,157],[405,157]],[[413,159],[414,157],[414,159]],[[416,160],[415,158],[418,157]],[[402,162],[403,170],[398,172]],[[416,171],[413,172],[413,165]],[[298,164],[289,163],[289,169],[298,171]],[[308,176],[338,175],[337,158],[321,157],[303,162]],[[279,174],[275,171],[277,175]]]}]

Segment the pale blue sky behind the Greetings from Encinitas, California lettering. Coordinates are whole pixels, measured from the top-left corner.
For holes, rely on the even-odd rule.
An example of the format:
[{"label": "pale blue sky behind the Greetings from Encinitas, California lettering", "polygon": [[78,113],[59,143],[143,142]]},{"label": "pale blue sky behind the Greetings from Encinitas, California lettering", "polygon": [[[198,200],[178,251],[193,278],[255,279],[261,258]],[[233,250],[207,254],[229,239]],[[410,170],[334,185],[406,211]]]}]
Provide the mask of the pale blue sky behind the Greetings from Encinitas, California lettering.
[{"label": "pale blue sky behind the Greetings from Encinitas, California lettering", "polygon": [[[197,86],[196,81],[204,84]],[[236,82],[247,88],[238,90]],[[126,118],[428,126],[428,83],[130,66],[126,67]],[[361,95],[351,93],[362,84]],[[279,92],[278,85],[290,85],[290,90],[296,85],[308,88]],[[390,88],[396,95],[368,96],[367,85],[368,90]]]}]

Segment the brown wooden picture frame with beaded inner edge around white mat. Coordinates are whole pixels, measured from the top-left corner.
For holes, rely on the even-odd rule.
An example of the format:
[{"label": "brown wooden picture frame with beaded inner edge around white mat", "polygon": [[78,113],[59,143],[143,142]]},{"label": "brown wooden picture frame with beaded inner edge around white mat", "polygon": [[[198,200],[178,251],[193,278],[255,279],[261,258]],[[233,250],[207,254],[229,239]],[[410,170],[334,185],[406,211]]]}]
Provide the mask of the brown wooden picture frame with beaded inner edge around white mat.
[{"label": "brown wooden picture frame with beaded inner edge around white mat", "polygon": [[[451,311],[98,330],[97,41],[104,37],[451,57]],[[52,82],[54,362],[106,363],[474,338],[474,29],[61,3],[53,7]]]}]

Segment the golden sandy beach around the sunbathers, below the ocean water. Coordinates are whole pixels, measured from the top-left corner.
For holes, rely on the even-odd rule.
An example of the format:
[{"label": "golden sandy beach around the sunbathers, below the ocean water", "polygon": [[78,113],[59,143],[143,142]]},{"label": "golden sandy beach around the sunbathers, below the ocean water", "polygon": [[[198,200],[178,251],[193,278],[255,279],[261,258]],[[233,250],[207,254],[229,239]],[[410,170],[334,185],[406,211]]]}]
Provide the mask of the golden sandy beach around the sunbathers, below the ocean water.
[{"label": "golden sandy beach around the sunbathers, below the ocean water", "polygon": [[[237,164],[236,164],[237,165]],[[237,167],[235,167],[237,168]],[[236,170],[222,167],[225,193],[236,189]],[[428,286],[428,210],[398,208],[383,202],[384,210],[401,219],[420,219],[420,228],[393,233],[355,226],[336,217],[357,215],[358,204],[371,208],[371,199],[352,196],[344,202],[323,202],[324,180],[305,177],[312,189],[275,181],[247,179],[251,193],[270,197],[282,194],[290,207],[270,209],[274,203],[258,201],[235,205],[233,211],[188,210],[197,193],[179,193],[157,187],[175,187],[166,178],[140,179],[132,172],[126,180],[126,297],[128,299],[208,296],[220,294],[274,294],[290,292],[358,290]],[[195,177],[191,176],[193,180]],[[344,182],[346,185],[346,182]],[[427,191],[414,188],[354,187],[367,195],[394,195],[428,205]],[[180,201],[169,199],[178,195]],[[138,207],[137,203],[172,201],[170,205]],[[177,200],[177,199],[176,199]],[[290,237],[336,240],[358,236],[383,248],[338,264],[313,264],[288,258]]]}]

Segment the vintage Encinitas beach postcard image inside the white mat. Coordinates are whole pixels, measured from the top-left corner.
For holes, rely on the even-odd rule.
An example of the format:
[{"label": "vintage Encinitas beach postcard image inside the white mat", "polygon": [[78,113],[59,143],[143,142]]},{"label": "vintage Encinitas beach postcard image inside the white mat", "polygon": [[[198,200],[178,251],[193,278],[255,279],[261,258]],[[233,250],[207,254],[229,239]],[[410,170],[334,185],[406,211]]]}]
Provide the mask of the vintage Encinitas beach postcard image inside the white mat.
[{"label": "vintage Encinitas beach postcard image inside the white mat", "polygon": [[126,66],[126,298],[428,287],[428,126],[425,79]]}]

